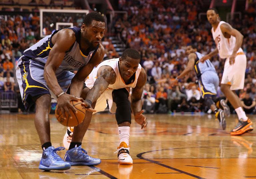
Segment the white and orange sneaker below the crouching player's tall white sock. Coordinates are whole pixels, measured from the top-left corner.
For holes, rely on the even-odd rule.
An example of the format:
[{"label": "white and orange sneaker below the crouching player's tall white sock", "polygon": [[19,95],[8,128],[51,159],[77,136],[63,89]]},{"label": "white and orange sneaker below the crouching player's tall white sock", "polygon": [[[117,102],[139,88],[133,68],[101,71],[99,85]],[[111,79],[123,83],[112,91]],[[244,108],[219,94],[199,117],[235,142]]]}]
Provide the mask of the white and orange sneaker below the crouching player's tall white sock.
[{"label": "white and orange sneaker below the crouching player's tall white sock", "polygon": [[[127,146],[125,142],[121,142],[117,147],[117,157],[120,165],[132,165],[132,157],[129,155],[130,146]],[[116,153],[115,152],[115,153]]]}]

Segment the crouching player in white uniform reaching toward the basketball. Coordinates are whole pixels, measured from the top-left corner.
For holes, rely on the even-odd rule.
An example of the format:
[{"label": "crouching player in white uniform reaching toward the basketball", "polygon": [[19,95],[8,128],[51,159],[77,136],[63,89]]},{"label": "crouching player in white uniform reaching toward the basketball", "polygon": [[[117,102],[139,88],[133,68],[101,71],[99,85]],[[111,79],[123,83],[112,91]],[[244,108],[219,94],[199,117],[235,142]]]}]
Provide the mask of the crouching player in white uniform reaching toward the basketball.
[{"label": "crouching player in white uniform reaching toward the basketball", "polygon": [[[108,101],[110,112],[115,113],[120,139],[117,157],[121,165],[133,163],[129,155],[131,109],[141,129],[147,126],[146,117],[142,114],[141,100],[147,75],[139,62],[139,52],[135,49],[126,49],[121,58],[100,63],[85,81],[88,93],[83,98],[92,101],[92,107],[96,112],[104,111]],[[130,88],[132,88],[131,102],[128,99]],[[94,113],[87,111],[86,120],[90,121]],[[87,128],[84,128],[81,135],[85,134]],[[63,139],[66,149],[70,148],[72,142],[80,140],[72,134],[72,127],[68,127]]]}]

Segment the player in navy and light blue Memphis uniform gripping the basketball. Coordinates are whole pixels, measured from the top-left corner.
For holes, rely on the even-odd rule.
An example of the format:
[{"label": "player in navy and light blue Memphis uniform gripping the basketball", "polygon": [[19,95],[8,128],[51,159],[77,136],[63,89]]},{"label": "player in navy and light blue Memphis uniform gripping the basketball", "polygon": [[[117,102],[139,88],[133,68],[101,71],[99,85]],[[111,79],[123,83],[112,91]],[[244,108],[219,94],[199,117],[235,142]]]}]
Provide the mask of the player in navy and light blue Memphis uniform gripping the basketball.
[{"label": "player in navy and light blue Memphis uniform gripping the basketball", "polygon": [[[105,54],[100,40],[104,36],[105,21],[99,13],[85,16],[81,28],[72,27],[55,31],[24,51],[16,67],[16,76],[23,103],[28,110],[36,103],[35,127],[43,149],[39,164],[41,170],[66,170],[71,165],[97,165],[101,161],[87,155],[81,148],[83,131],[88,121],[84,120],[74,128],[69,160],[64,162],[50,139],[49,112],[51,95],[57,98],[58,109],[62,113],[69,109],[76,112],[70,104],[78,100],[84,88],[84,81]],[[77,70],[76,75],[72,71]],[[70,94],[66,91],[69,89]],[[75,97],[77,96],[77,97]],[[91,101],[83,101],[88,111],[95,111]]]}]

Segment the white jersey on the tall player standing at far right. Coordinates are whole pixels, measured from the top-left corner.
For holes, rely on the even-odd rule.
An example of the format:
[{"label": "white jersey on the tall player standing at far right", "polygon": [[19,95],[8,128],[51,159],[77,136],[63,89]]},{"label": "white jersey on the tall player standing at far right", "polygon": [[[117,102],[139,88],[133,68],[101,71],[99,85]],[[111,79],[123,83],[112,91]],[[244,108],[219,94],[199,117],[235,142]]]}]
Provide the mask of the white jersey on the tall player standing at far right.
[{"label": "white jersey on the tall player standing at far right", "polygon": [[[215,31],[212,28],[212,37],[215,41],[216,48],[219,51],[219,56],[222,59],[228,58],[233,53],[233,49],[236,44],[236,38],[234,36],[231,36],[229,39],[225,38],[223,33],[221,32],[220,25],[224,24],[226,22],[220,21],[218,27],[215,29]],[[241,48],[237,52],[243,52]]]}]

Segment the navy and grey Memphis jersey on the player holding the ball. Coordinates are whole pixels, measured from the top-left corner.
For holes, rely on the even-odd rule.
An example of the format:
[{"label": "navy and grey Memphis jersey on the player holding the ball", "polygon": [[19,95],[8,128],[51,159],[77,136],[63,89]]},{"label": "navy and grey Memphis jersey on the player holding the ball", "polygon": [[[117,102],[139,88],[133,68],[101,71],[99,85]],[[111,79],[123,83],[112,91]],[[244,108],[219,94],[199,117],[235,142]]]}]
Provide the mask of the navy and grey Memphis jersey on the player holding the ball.
[{"label": "navy and grey Memphis jersey on the player holding the ball", "polygon": [[[69,51],[65,53],[65,57],[63,58],[63,61],[57,69],[56,73],[60,71],[72,72],[79,70],[82,66],[89,62],[89,60],[94,56],[99,48],[99,45],[96,48],[89,48],[86,54],[83,54],[80,50],[81,29],[78,27],[70,27],[67,29],[72,29],[75,32],[76,41],[71,46]],[[57,32],[58,31],[55,31],[53,34],[44,37],[36,44],[25,50],[23,59],[32,61],[34,64],[40,64],[44,66],[48,59],[50,50],[53,47],[51,38]]]}]

